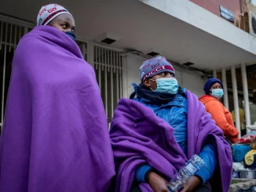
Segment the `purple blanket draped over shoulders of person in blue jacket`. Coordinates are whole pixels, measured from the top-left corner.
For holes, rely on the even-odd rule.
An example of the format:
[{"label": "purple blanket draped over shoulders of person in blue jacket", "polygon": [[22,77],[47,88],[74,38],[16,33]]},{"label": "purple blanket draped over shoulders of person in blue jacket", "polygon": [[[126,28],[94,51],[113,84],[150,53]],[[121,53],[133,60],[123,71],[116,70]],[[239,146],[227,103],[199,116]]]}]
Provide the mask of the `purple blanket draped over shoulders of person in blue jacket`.
[{"label": "purple blanket draped over shoulders of person in blue jacket", "polygon": [[[218,170],[212,187],[214,191],[229,191],[232,175],[232,152],[223,139],[223,132],[214,124],[197,97],[188,96],[188,158],[199,154],[203,144],[218,146]],[[170,180],[185,165],[187,158],[176,140],[174,129],[158,118],[153,110],[134,100],[122,99],[115,110],[110,131],[115,158],[116,192],[130,192],[134,171],[142,164],[149,164]],[[141,183],[143,192],[152,191]]]}]

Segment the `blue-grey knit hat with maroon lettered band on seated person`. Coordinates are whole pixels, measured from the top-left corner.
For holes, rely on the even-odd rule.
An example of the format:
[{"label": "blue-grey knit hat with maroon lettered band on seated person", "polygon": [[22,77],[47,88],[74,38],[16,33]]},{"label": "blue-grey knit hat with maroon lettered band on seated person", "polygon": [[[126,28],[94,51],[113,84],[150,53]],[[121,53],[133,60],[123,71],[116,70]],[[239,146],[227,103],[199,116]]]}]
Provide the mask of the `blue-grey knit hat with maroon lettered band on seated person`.
[{"label": "blue-grey knit hat with maroon lettered band on seated person", "polygon": [[140,67],[140,78],[143,82],[144,78],[151,78],[155,74],[170,72],[175,75],[174,67],[163,56],[156,56],[151,60],[145,60]]}]

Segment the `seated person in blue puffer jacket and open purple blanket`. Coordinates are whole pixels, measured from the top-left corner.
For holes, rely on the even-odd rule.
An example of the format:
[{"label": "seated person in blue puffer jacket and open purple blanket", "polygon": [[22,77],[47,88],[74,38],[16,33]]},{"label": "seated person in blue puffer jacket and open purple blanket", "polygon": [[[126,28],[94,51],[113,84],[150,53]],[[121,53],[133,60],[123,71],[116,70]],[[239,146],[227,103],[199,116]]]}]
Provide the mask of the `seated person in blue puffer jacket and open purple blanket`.
[{"label": "seated person in blue puffer jacket and open purple blanket", "polygon": [[133,84],[130,99],[119,101],[112,120],[117,175],[110,191],[169,191],[174,174],[199,154],[205,165],[182,192],[227,192],[232,153],[203,104],[178,86],[174,67],[164,57],[145,61],[140,74],[141,84]]}]

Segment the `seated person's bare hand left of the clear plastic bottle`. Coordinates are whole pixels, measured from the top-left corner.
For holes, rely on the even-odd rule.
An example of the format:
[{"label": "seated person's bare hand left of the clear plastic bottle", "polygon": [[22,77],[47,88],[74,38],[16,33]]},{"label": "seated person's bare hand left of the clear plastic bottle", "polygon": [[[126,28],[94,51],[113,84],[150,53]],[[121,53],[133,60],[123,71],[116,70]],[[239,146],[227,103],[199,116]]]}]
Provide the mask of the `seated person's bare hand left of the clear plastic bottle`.
[{"label": "seated person's bare hand left of the clear plastic bottle", "polygon": [[154,192],[170,192],[166,179],[163,179],[162,176],[159,176],[155,172],[148,173],[148,183]]}]

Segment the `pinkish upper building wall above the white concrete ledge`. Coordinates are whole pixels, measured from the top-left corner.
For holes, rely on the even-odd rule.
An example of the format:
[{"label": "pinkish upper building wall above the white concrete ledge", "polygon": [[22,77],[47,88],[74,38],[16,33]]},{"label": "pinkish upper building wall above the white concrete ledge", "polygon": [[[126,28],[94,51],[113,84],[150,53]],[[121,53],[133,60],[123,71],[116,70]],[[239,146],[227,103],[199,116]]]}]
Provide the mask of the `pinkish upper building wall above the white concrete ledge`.
[{"label": "pinkish upper building wall above the white concrete ledge", "polygon": [[190,0],[191,2],[196,3],[197,5],[207,9],[215,15],[221,16],[220,5],[224,6],[226,9],[232,11],[235,16],[235,21],[237,22],[238,16],[241,13],[241,4],[243,6],[244,1],[241,0]]}]

